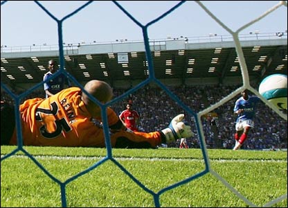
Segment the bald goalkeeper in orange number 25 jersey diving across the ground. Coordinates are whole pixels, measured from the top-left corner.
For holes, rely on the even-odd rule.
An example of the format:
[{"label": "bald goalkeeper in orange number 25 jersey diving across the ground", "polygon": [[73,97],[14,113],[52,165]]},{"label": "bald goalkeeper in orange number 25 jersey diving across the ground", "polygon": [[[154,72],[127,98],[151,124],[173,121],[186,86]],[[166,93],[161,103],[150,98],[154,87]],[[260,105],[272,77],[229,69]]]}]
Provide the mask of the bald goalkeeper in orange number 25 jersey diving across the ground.
[{"label": "bald goalkeeper in orange number 25 jersey diving across the ground", "polygon": [[[24,146],[105,147],[105,133],[93,121],[102,121],[101,108],[90,97],[107,103],[112,89],[100,80],[89,81],[84,89],[90,96],[80,87],[69,87],[48,98],[24,101],[19,106]],[[1,102],[1,145],[17,145],[13,107]],[[190,126],[182,122],[184,114],[175,116],[169,127],[160,131],[128,132],[114,110],[107,107],[106,112],[114,148],[156,148],[192,137]]]}]

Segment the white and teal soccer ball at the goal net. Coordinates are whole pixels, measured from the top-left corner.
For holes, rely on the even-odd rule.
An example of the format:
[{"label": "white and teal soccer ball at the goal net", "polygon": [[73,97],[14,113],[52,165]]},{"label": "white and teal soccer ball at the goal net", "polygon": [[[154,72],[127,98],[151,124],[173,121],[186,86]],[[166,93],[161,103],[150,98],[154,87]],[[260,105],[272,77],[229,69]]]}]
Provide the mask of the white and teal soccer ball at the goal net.
[{"label": "white and teal soccer ball at the goal net", "polygon": [[287,110],[287,75],[275,73],[267,76],[260,83],[258,92],[279,110]]}]

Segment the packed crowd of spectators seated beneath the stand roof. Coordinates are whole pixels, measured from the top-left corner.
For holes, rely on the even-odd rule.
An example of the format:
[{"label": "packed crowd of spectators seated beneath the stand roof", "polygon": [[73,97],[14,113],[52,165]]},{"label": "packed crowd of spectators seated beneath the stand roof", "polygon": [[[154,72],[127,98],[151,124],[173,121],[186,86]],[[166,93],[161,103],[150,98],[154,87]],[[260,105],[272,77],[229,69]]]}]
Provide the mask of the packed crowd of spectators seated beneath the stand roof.
[{"label": "packed crowd of spectators seated beneath the stand roof", "polygon": [[[192,85],[168,87],[168,89],[187,105],[190,110],[199,112],[217,103],[238,87],[240,86]],[[18,90],[15,94],[21,94],[23,92]],[[127,89],[114,89],[114,97],[120,96],[125,92],[127,92]],[[26,98],[44,98],[44,96],[43,89],[39,89],[39,92],[34,91],[26,96]],[[236,119],[235,114],[233,114],[235,99],[236,98],[233,98],[231,101],[213,110],[213,122],[211,122],[210,115],[201,118],[207,148],[232,149],[235,145],[233,136]],[[12,99],[6,92],[1,91],[1,101],[12,102]],[[168,121],[174,116],[184,113],[186,115],[186,122],[191,125],[194,132],[194,136],[187,139],[188,147],[200,148],[194,117],[180,107],[163,89],[146,85],[133,94],[127,95],[126,98],[123,98],[123,100],[118,101],[111,107],[114,108],[115,112],[120,114],[120,112],[123,111],[123,107],[127,105],[127,101],[133,103],[134,110],[141,116],[138,122],[139,131],[152,132],[161,130],[169,125]],[[262,102],[257,109],[255,114],[255,127],[249,133],[249,139],[246,140],[242,149],[273,150],[276,148],[287,148],[287,121],[278,116],[276,112],[273,112],[273,110]],[[177,140],[168,147],[179,148],[179,144],[180,141]]]}]

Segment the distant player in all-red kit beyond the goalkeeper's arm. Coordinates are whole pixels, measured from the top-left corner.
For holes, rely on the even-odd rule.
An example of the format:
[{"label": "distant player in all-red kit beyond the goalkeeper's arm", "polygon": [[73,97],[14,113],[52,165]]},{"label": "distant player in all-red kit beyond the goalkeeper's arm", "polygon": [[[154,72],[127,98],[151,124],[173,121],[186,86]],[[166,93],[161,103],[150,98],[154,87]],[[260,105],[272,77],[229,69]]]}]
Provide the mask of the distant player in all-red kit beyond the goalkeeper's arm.
[{"label": "distant player in all-red kit beyond the goalkeeper's arm", "polygon": [[138,123],[140,119],[140,115],[136,110],[132,109],[132,103],[127,103],[126,110],[120,113],[119,119],[123,122],[123,124],[132,131],[138,132]]}]

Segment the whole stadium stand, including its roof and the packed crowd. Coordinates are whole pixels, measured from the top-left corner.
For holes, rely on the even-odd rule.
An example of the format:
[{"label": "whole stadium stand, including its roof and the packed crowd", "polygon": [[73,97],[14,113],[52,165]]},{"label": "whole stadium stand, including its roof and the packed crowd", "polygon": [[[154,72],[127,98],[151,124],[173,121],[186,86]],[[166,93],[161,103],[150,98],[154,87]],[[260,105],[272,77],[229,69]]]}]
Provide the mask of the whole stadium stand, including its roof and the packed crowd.
[{"label": "whole stadium stand, including its roof and the packed crowd", "polygon": [[[150,42],[156,78],[170,87],[170,90],[195,112],[204,110],[242,84],[237,53],[231,37],[218,35],[208,42],[199,40],[200,37],[189,37],[188,40],[174,38]],[[257,39],[251,34],[240,35],[240,40],[242,40],[249,69],[249,78],[255,85],[255,89],[260,80],[269,74],[277,72],[287,75],[287,33],[281,37],[275,33],[265,33]],[[101,50],[98,49],[99,44]],[[15,94],[21,94],[35,83],[42,82],[42,77],[47,71],[44,66],[48,60],[57,60],[59,53],[57,50],[53,46],[23,47],[23,49],[1,46],[1,82],[11,87]],[[143,42],[70,44],[64,46],[64,53],[64,69],[78,82],[85,83],[91,79],[105,80],[114,87],[115,96],[120,96],[145,80],[148,75]],[[171,65],[168,67],[166,62],[169,61]],[[19,66],[23,68],[19,70]],[[81,69],[83,66],[86,68],[84,71]],[[172,70],[171,73],[165,71],[168,68]],[[27,77],[27,74],[30,77]],[[44,97],[42,89],[36,89],[26,96],[26,98],[34,97]],[[10,100],[2,87],[1,99]],[[120,113],[125,102],[127,101],[123,100],[113,106],[116,112]],[[155,126],[165,127],[168,123],[164,121],[172,119],[167,115],[183,112],[179,105],[153,85],[133,94],[133,103],[141,114],[140,128],[147,131],[159,130],[155,129]],[[229,101],[215,110],[217,135],[211,130],[206,118],[202,119],[207,148],[232,148],[234,145],[235,118],[231,109],[233,105],[234,101]],[[287,148],[287,128],[282,128],[287,126],[287,122],[279,119],[268,108],[267,112],[269,114],[258,115],[259,121],[255,122],[255,128],[251,132],[253,139],[246,142],[243,148]],[[280,125],[263,122],[267,121],[267,116],[270,121],[278,119]],[[192,123],[192,121],[188,122]],[[219,123],[228,125],[219,125]],[[273,137],[269,137],[271,134],[267,132],[272,132]],[[199,148],[196,131],[195,138],[188,139],[188,145],[190,148]],[[179,146],[179,141],[170,146]]]}]

